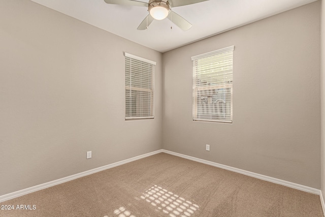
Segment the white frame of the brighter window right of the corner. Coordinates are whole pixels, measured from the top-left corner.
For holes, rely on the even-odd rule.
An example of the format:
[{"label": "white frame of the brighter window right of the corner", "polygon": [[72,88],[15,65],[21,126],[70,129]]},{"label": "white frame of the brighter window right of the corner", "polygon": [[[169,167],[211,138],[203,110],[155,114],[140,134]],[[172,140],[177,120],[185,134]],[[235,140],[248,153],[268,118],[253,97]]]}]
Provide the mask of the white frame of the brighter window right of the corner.
[{"label": "white frame of the brighter window right of the corner", "polygon": [[[211,52],[203,53],[200,55],[192,56],[191,59],[193,61],[193,84],[192,84],[192,120],[193,121],[204,121],[204,122],[222,122],[222,123],[233,123],[233,78],[231,80],[231,83],[229,84],[216,84],[216,85],[211,85],[211,86],[199,86],[198,85],[198,76],[197,76],[197,60],[198,59],[203,59],[206,57],[212,57],[212,56],[217,56],[219,54],[227,53],[227,52],[232,52],[232,61],[234,59],[233,51],[235,49],[235,46],[229,46],[225,47],[222,49],[214,50]],[[233,76],[233,62],[232,62],[232,76]],[[211,73],[212,74],[212,73]],[[230,118],[229,119],[208,119],[208,118],[198,118],[198,92],[199,91],[213,91],[216,89],[225,89],[225,88],[230,88]],[[211,98],[211,97],[210,97]],[[209,100],[207,98],[207,100]],[[210,99],[210,101],[213,99]],[[226,106],[226,104],[225,104]],[[212,112],[210,112],[211,115]]]}]

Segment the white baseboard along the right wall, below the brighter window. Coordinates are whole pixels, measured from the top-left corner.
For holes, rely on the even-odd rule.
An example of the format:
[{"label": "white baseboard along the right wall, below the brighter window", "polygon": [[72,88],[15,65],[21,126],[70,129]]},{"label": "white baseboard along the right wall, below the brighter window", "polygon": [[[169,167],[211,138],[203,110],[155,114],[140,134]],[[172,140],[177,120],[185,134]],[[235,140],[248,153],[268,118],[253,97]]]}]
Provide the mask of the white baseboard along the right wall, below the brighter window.
[{"label": "white baseboard along the right wall, below the brighter window", "polygon": [[276,184],[281,184],[281,185],[284,185],[284,186],[287,186],[287,187],[290,187],[290,188],[294,188],[294,189],[298,189],[298,190],[301,190],[301,191],[304,191],[304,192],[320,195],[320,190],[310,188],[310,187],[307,187],[305,185],[296,184],[296,183],[289,182],[289,181],[284,181],[284,180],[273,178],[273,177],[270,177],[270,176],[249,172],[249,171],[246,171],[246,170],[226,166],[226,165],[223,165],[223,164],[214,163],[214,162],[211,162],[211,161],[202,160],[202,159],[199,159],[199,158],[194,158],[194,157],[191,157],[191,156],[187,156],[185,154],[181,154],[181,153],[177,153],[177,152],[173,152],[173,151],[169,151],[169,150],[165,150],[165,149],[163,149],[162,152],[172,154],[172,155],[177,156],[177,157],[185,158],[185,159],[188,159],[188,160],[191,160],[191,161],[196,161],[196,162],[200,162],[200,163],[207,164],[207,165],[210,165],[210,166],[218,167],[218,168],[221,168],[221,169],[241,173],[241,174],[248,175],[248,176],[251,176],[251,177],[254,177],[254,178],[270,181],[270,182],[273,182],[273,183],[276,183]]}]

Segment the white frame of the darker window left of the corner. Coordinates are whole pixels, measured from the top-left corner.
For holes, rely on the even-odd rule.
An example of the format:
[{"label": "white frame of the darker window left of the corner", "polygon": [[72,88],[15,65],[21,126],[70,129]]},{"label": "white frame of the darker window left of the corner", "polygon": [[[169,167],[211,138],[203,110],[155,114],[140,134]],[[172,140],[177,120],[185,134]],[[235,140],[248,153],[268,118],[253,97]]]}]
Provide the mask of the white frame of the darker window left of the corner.
[{"label": "white frame of the darker window left of the corner", "polygon": [[[156,62],[155,61],[152,61],[152,60],[149,60],[149,59],[146,59],[146,58],[143,58],[143,57],[140,57],[140,56],[136,56],[136,55],[133,55],[133,54],[130,54],[130,53],[127,53],[127,52],[124,52],[124,61],[125,61],[125,72],[124,72],[124,97],[125,97],[125,109],[124,109],[124,116],[125,116],[125,120],[137,120],[137,119],[154,119],[154,68],[155,68],[155,65],[156,65]],[[143,88],[143,87],[137,87],[137,86],[132,86],[130,82],[129,85],[127,85],[127,78],[131,80],[131,71],[132,71],[132,66],[131,64],[129,65],[129,71],[128,72],[130,75],[129,77],[127,77],[127,58],[129,58],[130,60],[130,63],[133,60],[137,60],[137,61],[140,61],[140,63],[144,63],[144,64],[149,64],[151,65],[151,81],[149,81],[149,79],[147,80],[147,82],[151,83],[151,88]],[[149,72],[149,70],[148,70]],[[141,72],[140,72],[141,73]],[[142,76],[141,76],[141,79],[142,79]],[[141,80],[142,82],[142,80]],[[151,99],[150,99],[150,115],[146,115],[146,116],[132,116],[131,115],[131,109],[129,108],[129,110],[127,111],[127,90],[136,90],[136,91],[140,91],[140,92],[150,92],[150,96],[151,96]],[[130,92],[130,95],[131,95],[131,92]],[[142,105],[141,105],[142,106]]]}]

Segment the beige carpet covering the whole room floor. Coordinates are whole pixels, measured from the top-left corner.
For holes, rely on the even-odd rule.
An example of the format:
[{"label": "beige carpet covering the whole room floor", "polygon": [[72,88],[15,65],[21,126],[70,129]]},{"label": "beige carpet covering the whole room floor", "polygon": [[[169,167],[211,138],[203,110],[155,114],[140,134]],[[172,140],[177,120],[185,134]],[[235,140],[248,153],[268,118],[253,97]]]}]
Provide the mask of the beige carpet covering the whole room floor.
[{"label": "beige carpet covering the whole room floor", "polygon": [[[323,216],[318,195],[166,153],[1,205],[15,206],[0,210],[6,217]],[[29,209],[19,210],[17,205]]]}]

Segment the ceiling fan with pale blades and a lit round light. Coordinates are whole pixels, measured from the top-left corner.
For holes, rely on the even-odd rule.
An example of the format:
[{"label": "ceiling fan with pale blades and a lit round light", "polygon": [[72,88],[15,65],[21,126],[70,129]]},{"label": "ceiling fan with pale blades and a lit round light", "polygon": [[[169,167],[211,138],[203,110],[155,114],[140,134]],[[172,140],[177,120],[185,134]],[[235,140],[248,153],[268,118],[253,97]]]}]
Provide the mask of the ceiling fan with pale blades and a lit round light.
[{"label": "ceiling fan with pale blades and a lit round light", "polygon": [[134,0],[104,0],[107,4],[125,5],[125,6],[140,6],[147,7],[149,14],[138,26],[138,30],[147,29],[153,20],[163,20],[166,17],[175,23],[182,30],[188,30],[190,24],[183,17],[173,12],[171,9],[184,5],[191,5],[208,0],[150,0],[149,3],[139,2]]}]

